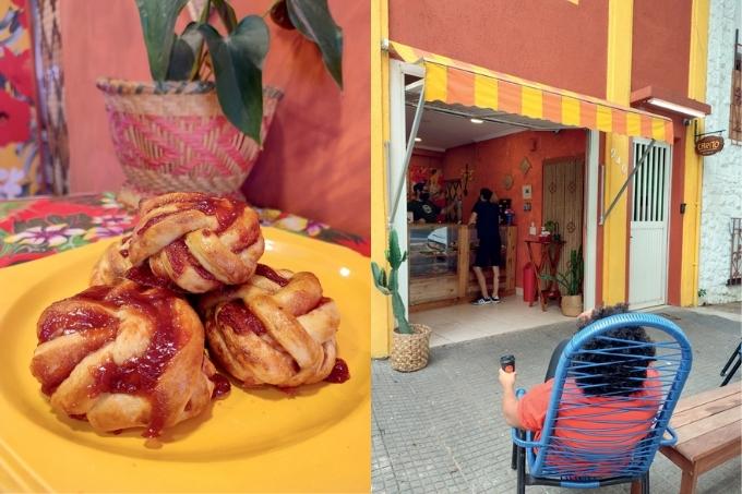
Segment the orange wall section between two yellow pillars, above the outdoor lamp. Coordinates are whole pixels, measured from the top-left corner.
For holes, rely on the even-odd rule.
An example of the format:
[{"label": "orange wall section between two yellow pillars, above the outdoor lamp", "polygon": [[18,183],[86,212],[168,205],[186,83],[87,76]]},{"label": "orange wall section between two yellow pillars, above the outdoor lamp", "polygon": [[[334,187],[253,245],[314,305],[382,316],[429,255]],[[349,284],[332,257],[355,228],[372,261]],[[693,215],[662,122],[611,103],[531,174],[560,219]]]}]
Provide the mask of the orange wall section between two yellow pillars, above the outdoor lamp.
[{"label": "orange wall section between two yellow pillars, above the outdoor lamp", "polygon": [[691,3],[692,0],[634,2],[632,91],[659,86],[678,96],[687,94]]}]

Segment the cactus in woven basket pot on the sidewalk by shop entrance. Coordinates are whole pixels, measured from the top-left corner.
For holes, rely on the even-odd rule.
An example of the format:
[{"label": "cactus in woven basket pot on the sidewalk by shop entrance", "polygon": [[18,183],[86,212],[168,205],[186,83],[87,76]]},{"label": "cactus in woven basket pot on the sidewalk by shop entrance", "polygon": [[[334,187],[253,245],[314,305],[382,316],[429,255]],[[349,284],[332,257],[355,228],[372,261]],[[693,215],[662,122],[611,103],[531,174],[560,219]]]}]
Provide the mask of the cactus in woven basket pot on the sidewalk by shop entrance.
[{"label": "cactus in woven basket pot on the sidewalk by shop entrance", "polygon": [[392,309],[396,327],[392,334],[392,352],[390,361],[392,369],[402,372],[418,371],[428,365],[430,353],[430,328],[423,324],[410,324],[407,321],[405,302],[399,296],[398,273],[399,266],[407,258],[399,250],[397,232],[390,232],[390,243],[386,250],[386,262],[390,265],[388,273],[375,262],[371,263],[373,282],[385,296],[392,297]]}]

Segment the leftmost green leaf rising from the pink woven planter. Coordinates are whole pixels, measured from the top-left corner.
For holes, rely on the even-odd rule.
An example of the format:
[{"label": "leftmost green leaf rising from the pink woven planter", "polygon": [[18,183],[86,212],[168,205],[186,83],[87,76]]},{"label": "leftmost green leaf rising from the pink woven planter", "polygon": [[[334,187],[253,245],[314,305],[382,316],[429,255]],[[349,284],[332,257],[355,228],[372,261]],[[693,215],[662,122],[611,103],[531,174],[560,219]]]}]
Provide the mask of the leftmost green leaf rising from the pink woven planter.
[{"label": "leftmost green leaf rising from the pink woven planter", "polygon": [[167,77],[175,44],[176,20],[188,0],[136,0],[144,44],[147,47],[149,73],[155,81]]}]

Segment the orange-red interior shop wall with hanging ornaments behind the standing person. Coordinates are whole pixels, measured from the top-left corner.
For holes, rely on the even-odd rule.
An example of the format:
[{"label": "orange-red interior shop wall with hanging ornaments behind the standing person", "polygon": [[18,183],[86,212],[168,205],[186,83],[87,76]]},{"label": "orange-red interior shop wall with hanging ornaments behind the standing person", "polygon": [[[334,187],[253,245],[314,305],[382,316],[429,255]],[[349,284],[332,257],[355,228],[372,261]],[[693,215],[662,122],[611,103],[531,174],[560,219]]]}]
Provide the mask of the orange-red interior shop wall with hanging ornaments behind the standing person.
[{"label": "orange-red interior shop wall with hanging ornaments behind the standing person", "polygon": [[[562,131],[559,134],[527,131],[451,148],[445,154],[444,177],[446,179],[460,177],[462,169],[467,162],[470,169],[474,169],[472,181],[468,186],[469,194],[464,198],[465,220],[469,219],[471,208],[479,197],[479,190],[483,186],[492,189],[498,198],[513,200],[515,222],[518,227],[515,268],[515,285],[518,287],[523,286],[523,267],[528,262],[528,252],[524,242],[528,237],[528,228],[534,221],[540,231],[542,221],[542,162],[549,158],[584,155],[586,145],[585,132],[582,130]],[[527,157],[531,164],[525,177],[518,168],[524,157]],[[503,185],[503,179],[507,173],[514,179],[511,190],[505,190]],[[525,184],[530,184],[532,190],[530,212],[523,210],[525,202],[523,185]]]}]

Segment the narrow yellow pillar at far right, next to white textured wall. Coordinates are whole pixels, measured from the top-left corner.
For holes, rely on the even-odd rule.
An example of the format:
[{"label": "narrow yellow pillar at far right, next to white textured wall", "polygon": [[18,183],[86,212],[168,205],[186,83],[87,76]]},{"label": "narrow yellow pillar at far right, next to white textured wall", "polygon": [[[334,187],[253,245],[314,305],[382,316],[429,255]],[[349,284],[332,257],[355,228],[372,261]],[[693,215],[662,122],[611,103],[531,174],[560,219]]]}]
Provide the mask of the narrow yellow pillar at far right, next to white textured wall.
[{"label": "narrow yellow pillar at far right, next to white textured wall", "polygon": [[[697,101],[706,100],[706,63],[708,59],[709,0],[693,0],[691,11],[691,56],[689,60],[687,96]],[[695,132],[704,132],[703,119],[697,129],[685,130],[685,177],[683,202],[683,246],[680,273],[680,304],[698,304],[698,250],[701,243],[701,197],[704,160],[694,149]]]}]

